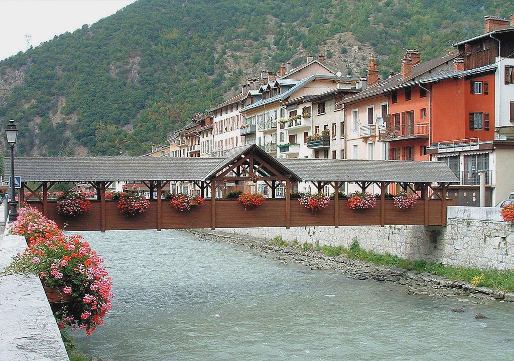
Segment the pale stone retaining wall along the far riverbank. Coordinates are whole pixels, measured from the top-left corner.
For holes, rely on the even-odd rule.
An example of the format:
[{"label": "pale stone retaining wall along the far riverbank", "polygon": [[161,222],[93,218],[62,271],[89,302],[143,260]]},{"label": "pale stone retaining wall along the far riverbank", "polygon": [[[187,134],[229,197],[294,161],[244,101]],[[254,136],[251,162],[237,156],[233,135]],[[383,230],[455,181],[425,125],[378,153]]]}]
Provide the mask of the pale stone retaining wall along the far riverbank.
[{"label": "pale stone retaining wall along the far riverbank", "polygon": [[446,227],[257,227],[217,231],[260,239],[282,236],[288,242],[296,239],[300,243],[319,242],[320,245],[347,246],[355,238],[366,250],[410,260],[440,261],[457,267],[514,267],[514,226],[501,220],[499,208],[452,206],[448,207],[447,217]]}]

